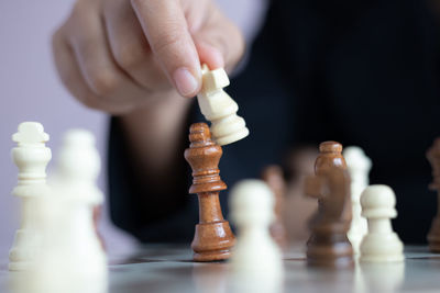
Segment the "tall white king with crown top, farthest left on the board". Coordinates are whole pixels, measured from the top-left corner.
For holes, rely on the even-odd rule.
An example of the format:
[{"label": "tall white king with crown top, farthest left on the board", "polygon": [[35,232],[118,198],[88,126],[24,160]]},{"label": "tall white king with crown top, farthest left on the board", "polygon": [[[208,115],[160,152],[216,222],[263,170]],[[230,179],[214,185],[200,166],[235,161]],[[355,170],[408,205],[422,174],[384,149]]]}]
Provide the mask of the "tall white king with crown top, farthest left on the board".
[{"label": "tall white king with crown top, farthest left on the board", "polygon": [[12,135],[18,143],[11,151],[19,168],[19,182],[12,194],[22,199],[21,227],[15,233],[9,252],[9,270],[30,270],[38,255],[42,235],[35,224],[35,206],[51,192],[46,184],[46,166],[52,158],[51,149],[45,147],[48,134],[36,122],[23,122]]}]

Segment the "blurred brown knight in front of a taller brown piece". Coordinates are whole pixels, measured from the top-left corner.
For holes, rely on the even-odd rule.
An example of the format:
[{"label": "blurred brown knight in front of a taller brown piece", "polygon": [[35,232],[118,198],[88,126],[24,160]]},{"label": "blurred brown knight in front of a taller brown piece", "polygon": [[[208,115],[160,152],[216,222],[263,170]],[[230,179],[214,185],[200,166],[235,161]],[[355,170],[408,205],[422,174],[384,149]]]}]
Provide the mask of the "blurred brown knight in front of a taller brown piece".
[{"label": "blurred brown knight in front of a taller brown piece", "polygon": [[353,248],[346,237],[351,224],[350,177],[340,167],[320,169],[306,178],[305,192],[319,200],[320,210],[310,225],[307,262],[311,267],[351,268]]}]

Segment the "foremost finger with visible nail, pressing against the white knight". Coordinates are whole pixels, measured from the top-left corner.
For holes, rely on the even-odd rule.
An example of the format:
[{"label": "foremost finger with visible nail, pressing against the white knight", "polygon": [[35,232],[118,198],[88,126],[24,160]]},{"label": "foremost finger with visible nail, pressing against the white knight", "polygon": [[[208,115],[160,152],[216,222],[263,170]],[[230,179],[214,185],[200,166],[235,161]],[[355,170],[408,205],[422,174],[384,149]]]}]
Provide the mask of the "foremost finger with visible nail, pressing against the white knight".
[{"label": "foremost finger with visible nail, pressing against the white knight", "polygon": [[132,0],[154,57],[184,97],[200,89],[200,60],[179,1]]}]

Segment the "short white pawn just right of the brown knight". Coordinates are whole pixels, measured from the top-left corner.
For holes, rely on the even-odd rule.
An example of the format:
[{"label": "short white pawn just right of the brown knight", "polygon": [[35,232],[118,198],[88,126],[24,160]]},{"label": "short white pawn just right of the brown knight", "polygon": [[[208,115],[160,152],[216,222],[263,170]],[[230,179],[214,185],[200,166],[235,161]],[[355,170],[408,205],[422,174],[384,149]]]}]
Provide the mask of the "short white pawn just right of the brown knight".
[{"label": "short white pawn just right of the brown knight", "polygon": [[404,260],[404,245],[393,232],[391,218],[397,216],[396,195],[387,185],[370,185],[361,195],[362,216],[369,233],[361,243],[363,262],[398,262]]}]

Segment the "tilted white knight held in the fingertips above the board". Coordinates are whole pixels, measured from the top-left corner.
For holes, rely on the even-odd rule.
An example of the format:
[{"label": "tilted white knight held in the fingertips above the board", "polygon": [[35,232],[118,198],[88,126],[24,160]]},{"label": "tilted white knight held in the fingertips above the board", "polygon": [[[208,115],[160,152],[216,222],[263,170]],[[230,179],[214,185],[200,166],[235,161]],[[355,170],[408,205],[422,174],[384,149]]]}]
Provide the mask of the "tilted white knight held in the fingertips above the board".
[{"label": "tilted white knight held in the fingertips above the board", "polygon": [[201,68],[202,89],[197,97],[200,111],[210,121],[213,140],[228,145],[249,135],[245,122],[237,115],[239,105],[223,91],[229,86],[229,78],[223,68],[209,70],[207,65]]}]

